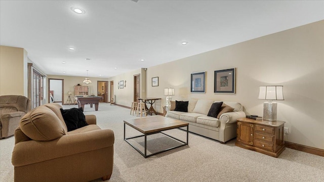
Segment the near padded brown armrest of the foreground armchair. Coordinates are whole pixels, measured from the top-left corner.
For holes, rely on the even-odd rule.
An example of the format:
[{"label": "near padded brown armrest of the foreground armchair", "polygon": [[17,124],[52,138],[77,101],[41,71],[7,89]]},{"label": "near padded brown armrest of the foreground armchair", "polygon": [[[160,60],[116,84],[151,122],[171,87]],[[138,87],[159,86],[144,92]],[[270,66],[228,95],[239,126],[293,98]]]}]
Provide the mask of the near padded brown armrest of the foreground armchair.
[{"label": "near padded brown armrest of the foreground armchair", "polygon": [[25,141],[15,145],[12,164],[15,167],[112,147],[114,133],[110,129],[97,129],[67,134],[52,141]]}]

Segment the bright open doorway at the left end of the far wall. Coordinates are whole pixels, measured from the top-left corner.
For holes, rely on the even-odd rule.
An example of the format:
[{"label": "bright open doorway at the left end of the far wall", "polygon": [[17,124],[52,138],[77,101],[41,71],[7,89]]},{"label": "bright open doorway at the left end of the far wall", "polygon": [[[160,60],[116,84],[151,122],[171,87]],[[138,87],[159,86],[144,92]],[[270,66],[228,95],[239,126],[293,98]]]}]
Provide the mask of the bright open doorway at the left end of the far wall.
[{"label": "bright open doorway at the left end of the far wall", "polygon": [[62,103],[64,105],[63,90],[64,79],[49,78],[49,103]]}]

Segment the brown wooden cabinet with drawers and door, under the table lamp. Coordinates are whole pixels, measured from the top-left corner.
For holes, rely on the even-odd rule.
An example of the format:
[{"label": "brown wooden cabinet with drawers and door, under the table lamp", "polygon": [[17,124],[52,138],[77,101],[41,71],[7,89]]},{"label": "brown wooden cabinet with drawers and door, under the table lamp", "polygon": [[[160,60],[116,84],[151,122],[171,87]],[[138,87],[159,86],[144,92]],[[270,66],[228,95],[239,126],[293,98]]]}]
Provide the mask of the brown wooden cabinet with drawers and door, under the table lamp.
[{"label": "brown wooden cabinet with drawers and door, under the table lamp", "polygon": [[285,150],[284,124],[285,121],[239,118],[235,145],[278,157]]}]

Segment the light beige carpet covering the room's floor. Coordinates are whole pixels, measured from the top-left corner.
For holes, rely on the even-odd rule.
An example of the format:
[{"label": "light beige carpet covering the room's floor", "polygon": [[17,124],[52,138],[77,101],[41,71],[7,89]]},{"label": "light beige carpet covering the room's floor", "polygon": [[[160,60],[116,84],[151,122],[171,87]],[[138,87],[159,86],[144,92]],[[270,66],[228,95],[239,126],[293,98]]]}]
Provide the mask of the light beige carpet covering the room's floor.
[{"label": "light beige carpet covering the room's floor", "polygon": [[[192,133],[189,133],[189,146],[145,159],[124,141],[123,121],[136,118],[130,115],[130,109],[100,103],[99,111],[86,105],[85,114],[95,114],[97,124],[112,129],[115,134],[113,173],[107,181],[324,181],[324,157],[286,148],[274,158],[236,147],[235,140],[220,144]],[[126,133],[127,136],[139,134],[130,127],[126,127]],[[166,133],[185,141],[183,130]],[[133,142],[143,148],[142,138]],[[148,138],[150,152],[175,145],[178,144],[161,134]],[[0,140],[0,181],[13,181],[13,147],[14,137]]]}]

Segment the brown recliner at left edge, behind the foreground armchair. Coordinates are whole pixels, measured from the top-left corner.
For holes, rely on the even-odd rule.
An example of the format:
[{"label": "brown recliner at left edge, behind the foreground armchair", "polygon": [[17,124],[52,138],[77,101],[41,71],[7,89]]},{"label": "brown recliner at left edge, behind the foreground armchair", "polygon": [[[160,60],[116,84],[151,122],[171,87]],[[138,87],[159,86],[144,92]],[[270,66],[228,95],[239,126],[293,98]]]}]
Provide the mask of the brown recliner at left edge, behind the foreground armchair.
[{"label": "brown recliner at left edge, behind the foreground armchair", "polygon": [[24,96],[0,96],[0,139],[14,135],[20,119],[30,110],[30,100]]}]

